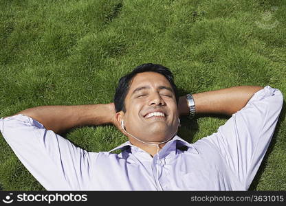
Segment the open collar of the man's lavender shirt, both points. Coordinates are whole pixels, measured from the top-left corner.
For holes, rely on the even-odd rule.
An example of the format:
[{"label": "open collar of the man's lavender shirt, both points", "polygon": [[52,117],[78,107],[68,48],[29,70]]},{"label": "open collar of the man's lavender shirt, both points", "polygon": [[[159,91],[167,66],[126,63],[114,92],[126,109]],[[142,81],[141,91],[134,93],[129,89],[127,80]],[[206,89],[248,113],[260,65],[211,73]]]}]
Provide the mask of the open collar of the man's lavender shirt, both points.
[{"label": "open collar of the man's lavender shirt, both points", "polygon": [[[164,151],[166,151],[166,150],[176,150],[176,148],[180,148],[181,146],[186,146],[188,148],[192,148],[193,149],[192,152],[195,152],[197,154],[199,153],[192,146],[192,144],[188,143],[188,141],[185,141],[184,139],[181,139],[181,137],[179,137],[177,135],[173,139],[168,141],[166,143],[166,145],[162,148],[162,150],[164,150]],[[121,144],[120,146],[117,146],[116,148],[110,150],[109,152],[113,152],[114,150],[126,150],[126,148],[129,148],[129,147],[138,148],[137,146],[134,146],[133,144],[131,144],[130,141],[126,141],[123,144]]]}]

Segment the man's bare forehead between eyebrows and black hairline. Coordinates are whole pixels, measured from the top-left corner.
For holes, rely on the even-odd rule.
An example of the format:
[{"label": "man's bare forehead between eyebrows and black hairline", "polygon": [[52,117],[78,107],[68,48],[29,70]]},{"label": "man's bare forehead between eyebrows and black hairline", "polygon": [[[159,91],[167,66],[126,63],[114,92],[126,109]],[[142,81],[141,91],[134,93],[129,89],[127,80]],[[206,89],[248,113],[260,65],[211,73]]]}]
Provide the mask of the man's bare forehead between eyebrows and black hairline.
[{"label": "man's bare forehead between eyebrows and black hairline", "polygon": [[131,80],[130,91],[136,89],[137,87],[143,86],[168,86],[170,87],[170,82],[167,78],[157,72],[146,71],[142,73],[137,73],[137,75]]}]

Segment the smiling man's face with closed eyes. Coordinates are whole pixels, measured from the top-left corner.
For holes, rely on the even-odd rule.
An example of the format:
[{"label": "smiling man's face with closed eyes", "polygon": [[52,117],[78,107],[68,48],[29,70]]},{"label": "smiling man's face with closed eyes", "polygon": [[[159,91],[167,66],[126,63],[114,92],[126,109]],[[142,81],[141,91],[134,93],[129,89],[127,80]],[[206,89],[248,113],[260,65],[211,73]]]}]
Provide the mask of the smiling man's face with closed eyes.
[{"label": "smiling man's face with closed eyes", "polygon": [[133,78],[125,108],[126,113],[121,113],[126,131],[143,141],[164,141],[177,130],[175,93],[159,73],[143,72]]}]

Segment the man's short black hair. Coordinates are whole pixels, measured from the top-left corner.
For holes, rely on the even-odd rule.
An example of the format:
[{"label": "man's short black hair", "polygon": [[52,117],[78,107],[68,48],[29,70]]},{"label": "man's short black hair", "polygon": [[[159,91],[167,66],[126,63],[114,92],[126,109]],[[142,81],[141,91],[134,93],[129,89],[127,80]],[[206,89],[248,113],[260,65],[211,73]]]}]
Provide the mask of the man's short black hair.
[{"label": "man's short black hair", "polygon": [[152,63],[143,64],[131,71],[130,73],[127,73],[125,76],[120,78],[118,82],[118,87],[116,88],[115,95],[114,95],[114,105],[115,105],[115,111],[118,113],[119,111],[126,112],[125,108],[125,98],[129,91],[130,82],[131,80],[137,75],[137,73],[142,73],[146,71],[153,71],[162,74],[168,82],[170,82],[170,86],[172,87],[174,93],[176,102],[178,104],[179,102],[179,93],[177,91],[177,87],[174,82],[174,76],[173,73],[168,69],[167,67],[164,67],[162,65],[155,65]]}]

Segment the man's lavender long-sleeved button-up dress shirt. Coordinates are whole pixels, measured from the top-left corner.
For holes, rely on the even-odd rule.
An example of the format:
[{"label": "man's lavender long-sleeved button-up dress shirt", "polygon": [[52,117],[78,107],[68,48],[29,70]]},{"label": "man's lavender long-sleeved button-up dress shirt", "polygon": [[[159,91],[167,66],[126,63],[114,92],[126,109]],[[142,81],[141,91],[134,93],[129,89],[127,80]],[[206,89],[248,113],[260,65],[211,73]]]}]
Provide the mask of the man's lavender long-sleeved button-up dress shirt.
[{"label": "man's lavender long-sleeved button-up dress shirt", "polygon": [[129,141],[119,155],[87,152],[25,115],[1,118],[0,130],[46,190],[248,190],[282,105],[266,86],[216,133],[194,144],[175,136],[154,158]]}]

